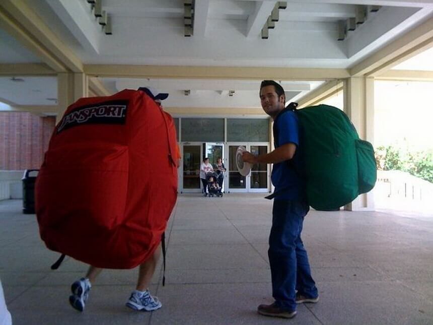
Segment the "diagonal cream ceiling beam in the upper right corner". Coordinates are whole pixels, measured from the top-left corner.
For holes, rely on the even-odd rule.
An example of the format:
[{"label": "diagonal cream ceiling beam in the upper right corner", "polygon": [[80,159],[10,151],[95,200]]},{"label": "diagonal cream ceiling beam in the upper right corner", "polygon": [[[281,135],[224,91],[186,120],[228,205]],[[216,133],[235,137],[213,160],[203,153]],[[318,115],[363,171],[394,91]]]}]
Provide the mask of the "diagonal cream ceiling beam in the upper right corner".
[{"label": "diagonal cream ceiling beam in the upper right corner", "polygon": [[350,69],[352,77],[378,77],[433,46],[433,18],[405,33]]}]

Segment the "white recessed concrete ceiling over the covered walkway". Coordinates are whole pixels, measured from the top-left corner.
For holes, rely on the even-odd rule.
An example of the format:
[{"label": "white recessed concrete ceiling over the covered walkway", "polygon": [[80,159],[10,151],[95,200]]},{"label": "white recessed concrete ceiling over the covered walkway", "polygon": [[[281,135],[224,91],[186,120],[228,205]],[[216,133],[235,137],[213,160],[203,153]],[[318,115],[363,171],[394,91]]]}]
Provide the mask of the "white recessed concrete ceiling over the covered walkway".
[{"label": "white recessed concrete ceiling over the covered walkway", "polygon": [[[43,21],[58,39],[59,48],[66,48],[85,65],[209,67],[210,71],[215,67],[233,68],[234,72],[225,78],[211,74],[200,78],[155,77],[147,76],[146,70],[133,78],[121,78],[121,71],[99,77],[112,93],[154,86],[170,93],[164,102],[166,107],[209,110],[260,106],[260,80],[257,75],[238,78],[236,69],[240,67],[255,68],[261,71],[261,77],[269,79],[274,79],[277,68],[350,69],[433,17],[432,0],[195,0],[191,6],[182,0],[102,0],[101,13],[105,11],[111,21],[112,34],[107,35],[109,27],[100,25],[95,17],[99,8],[92,9],[87,0],[17,2]],[[11,5],[0,4],[0,9],[2,6],[8,12]],[[193,12],[189,37],[185,36],[190,33],[185,27],[188,8]],[[274,28],[267,28],[272,25],[268,22],[272,15],[278,20],[273,22]],[[268,38],[264,39],[266,32]],[[0,48],[0,65],[46,63],[40,53],[30,50],[1,24]],[[428,57],[431,51],[427,61]],[[338,78],[338,74],[328,78],[317,74],[315,78],[314,71],[305,78],[301,71],[296,77],[278,80],[288,100],[298,100],[327,80]],[[55,75],[2,76],[0,101],[55,105],[55,80]]]}]

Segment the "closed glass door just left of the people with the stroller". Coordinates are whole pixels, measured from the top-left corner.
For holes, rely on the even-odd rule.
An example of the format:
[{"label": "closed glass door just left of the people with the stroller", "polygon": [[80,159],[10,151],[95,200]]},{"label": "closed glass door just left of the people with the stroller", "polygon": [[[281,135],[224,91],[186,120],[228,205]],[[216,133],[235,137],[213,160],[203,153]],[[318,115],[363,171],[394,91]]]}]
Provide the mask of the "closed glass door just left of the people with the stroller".
[{"label": "closed glass door just left of the people with the stroller", "polygon": [[181,192],[200,192],[200,164],[202,161],[201,143],[182,144],[182,188]]}]

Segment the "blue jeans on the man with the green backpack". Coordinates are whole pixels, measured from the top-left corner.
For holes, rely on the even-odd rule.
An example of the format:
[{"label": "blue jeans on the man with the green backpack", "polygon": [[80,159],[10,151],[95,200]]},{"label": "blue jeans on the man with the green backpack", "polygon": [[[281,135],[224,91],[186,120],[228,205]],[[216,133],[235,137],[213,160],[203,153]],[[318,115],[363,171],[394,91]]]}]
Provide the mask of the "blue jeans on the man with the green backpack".
[{"label": "blue jeans on the man with the green backpack", "polygon": [[295,290],[308,298],[318,296],[301,240],[302,224],[309,209],[304,202],[274,200],[273,203],[268,250],[272,296],[286,310],[296,310]]}]

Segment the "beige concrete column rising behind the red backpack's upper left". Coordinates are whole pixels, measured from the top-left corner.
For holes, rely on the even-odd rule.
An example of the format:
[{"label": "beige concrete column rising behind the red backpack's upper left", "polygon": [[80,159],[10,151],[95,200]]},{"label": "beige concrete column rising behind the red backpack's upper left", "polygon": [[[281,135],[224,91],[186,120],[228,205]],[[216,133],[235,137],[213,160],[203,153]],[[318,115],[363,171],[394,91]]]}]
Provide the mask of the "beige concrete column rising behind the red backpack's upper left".
[{"label": "beige concrete column rising behind the red backpack's upper left", "polygon": [[57,104],[56,123],[60,121],[66,108],[80,99],[89,96],[88,77],[83,73],[57,74]]}]

